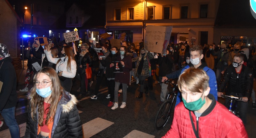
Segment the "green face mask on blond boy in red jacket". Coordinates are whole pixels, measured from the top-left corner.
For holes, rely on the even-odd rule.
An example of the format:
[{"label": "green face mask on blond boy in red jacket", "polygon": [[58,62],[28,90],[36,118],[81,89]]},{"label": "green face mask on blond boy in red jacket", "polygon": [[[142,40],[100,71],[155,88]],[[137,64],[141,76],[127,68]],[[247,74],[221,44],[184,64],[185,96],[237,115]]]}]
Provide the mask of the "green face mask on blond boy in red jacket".
[{"label": "green face mask on blond boy in red jacket", "polygon": [[188,102],[187,103],[186,100],[184,100],[183,98],[182,98],[182,101],[183,101],[185,107],[187,109],[189,109],[190,111],[199,110],[205,104],[205,98],[202,101],[201,97],[198,100],[194,101],[194,102]]}]

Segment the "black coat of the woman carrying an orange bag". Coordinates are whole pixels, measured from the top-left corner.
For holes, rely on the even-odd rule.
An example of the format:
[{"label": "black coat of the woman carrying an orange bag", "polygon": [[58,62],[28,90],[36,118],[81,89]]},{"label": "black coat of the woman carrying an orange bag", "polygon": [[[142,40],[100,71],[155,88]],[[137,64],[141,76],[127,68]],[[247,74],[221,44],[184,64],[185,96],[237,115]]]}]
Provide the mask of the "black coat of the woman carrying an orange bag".
[{"label": "black coat of the woman carrying an orange bag", "polygon": [[[80,62],[80,58],[82,58],[81,63]],[[89,52],[87,52],[85,54],[85,56],[79,56],[78,60],[77,60],[77,73],[79,73],[80,75],[83,74],[85,72],[85,69],[87,68],[86,64],[88,63],[89,67],[92,67],[93,64],[93,60],[92,60],[92,56]],[[80,65],[82,65],[82,67],[80,67]]]}]

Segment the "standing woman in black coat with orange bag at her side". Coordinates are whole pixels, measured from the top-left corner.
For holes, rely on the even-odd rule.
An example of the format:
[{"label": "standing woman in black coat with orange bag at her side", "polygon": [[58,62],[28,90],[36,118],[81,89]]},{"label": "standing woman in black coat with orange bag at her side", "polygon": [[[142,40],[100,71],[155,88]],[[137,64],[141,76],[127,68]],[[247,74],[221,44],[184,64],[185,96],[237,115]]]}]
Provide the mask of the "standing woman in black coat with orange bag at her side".
[{"label": "standing woman in black coat with orange bag at her side", "polygon": [[90,88],[90,79],[86,78],[86,72],[85,69],[87,68],[87,65],[89,67],[92,67],[92,56],[88,51],[88,44],[83,43],[81,44],[81,52],[77,60],[77,73],[80,75],[81,82],[80,82],[80,94],[89,96],[89,88]]}]

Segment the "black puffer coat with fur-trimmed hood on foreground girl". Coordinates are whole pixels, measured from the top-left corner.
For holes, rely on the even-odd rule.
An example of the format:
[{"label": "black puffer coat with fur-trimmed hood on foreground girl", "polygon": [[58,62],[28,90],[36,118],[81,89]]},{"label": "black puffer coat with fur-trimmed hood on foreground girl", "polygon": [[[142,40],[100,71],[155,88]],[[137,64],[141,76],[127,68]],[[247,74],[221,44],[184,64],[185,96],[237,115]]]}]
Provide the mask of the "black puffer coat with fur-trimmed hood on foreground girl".
[{"label": "black puffer coat with fur-trimmed hood on foreground girl", "polygon": [[[57,105],[53,121],[51,138],[73,138],[83,137],[82,122],[76,107],[77,99],[74,95],[64,91]],[[31,106],[29,106],[27,127],[24,138],[37,138],[38,112],[31,117]]]}]

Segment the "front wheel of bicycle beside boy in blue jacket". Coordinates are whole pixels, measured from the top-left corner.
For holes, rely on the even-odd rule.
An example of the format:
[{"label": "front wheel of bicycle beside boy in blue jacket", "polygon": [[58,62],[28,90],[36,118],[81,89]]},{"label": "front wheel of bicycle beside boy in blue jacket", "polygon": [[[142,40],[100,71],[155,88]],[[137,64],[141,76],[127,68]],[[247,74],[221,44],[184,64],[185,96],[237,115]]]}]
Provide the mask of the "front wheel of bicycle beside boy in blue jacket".
[{"label": "front wheel of bicycle beside boy in blue jacket", "polygon": [[172,105],[173,105],[172,99],[168,99],[164,101],[160,106],[159,110],[157,111],[155,122],[154,122],[154,128],[156,130],[160,130],[166,125],[167,121],[170,118]]}]

